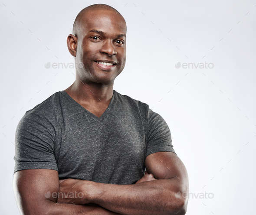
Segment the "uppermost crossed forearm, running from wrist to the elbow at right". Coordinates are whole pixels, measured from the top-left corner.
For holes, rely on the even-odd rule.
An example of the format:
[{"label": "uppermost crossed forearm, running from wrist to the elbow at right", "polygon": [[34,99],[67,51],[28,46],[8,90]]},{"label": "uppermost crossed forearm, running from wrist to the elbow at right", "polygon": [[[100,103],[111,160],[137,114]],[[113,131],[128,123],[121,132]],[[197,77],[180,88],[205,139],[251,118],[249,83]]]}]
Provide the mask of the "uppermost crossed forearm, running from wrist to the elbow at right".
[{"label": "uppermost crossed forearm, running from wrist to the elbow at right", "polygon": [[[135,185],[95,183],[92,201],[124,215],[184,214],[187,199],[176,198],[176,179],[159,179]],[[186,202],[186,203],[185,203]]]}]

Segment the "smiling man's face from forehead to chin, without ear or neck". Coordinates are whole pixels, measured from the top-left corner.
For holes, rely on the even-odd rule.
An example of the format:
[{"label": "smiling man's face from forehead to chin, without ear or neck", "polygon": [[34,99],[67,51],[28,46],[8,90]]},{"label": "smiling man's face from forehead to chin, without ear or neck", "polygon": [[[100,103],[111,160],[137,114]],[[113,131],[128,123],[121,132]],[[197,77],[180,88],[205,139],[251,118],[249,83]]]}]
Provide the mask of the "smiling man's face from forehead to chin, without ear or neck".
[{"label": "smiling man's face from forehead to chin, without ear or neck", "polygon": [[111,10],[91,10],[81,26],[76,49],[76,63],[84,65],[78,69],[80,77],[102,84],[113,82],[125,67],[125,20]]}]

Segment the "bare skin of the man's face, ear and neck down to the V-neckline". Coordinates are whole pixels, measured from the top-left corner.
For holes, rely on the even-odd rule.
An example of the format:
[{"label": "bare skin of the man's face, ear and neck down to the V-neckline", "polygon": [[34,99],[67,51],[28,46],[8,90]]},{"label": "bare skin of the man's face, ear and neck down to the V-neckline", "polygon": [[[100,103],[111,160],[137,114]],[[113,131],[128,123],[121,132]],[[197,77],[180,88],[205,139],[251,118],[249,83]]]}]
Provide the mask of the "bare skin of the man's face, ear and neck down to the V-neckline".
[{"label": "bare skin of the man's face, ear and neck down to the V-neckline", "polygon": [[[69,52],[75,56],[76,65],[84,67],[77,66],[75,82],[65,90],[97,117],[108,107],[114,80],[125,67],[126,60],[125,20],[109,10],[101,10],[100,14],[89,11],[83,17],[85,24],[82,33],[79,32],[81,36],[68,36]],[[115,62],[115,65],[107,70],[99,68],[95,61]]]}]

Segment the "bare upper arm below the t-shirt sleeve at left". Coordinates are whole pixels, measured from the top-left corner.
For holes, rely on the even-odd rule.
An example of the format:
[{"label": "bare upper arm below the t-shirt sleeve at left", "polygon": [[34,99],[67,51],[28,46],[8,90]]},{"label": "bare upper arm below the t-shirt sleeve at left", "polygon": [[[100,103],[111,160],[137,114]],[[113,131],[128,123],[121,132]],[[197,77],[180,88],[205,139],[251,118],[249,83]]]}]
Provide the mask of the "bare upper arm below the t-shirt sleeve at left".
[{"label": "bare upper arm below the t-shirt sleeve at left", "polygon": [[21,214],[47,213],[57,202],[58,171],[53,169],[24,169],[14,174],[13,189]]}]

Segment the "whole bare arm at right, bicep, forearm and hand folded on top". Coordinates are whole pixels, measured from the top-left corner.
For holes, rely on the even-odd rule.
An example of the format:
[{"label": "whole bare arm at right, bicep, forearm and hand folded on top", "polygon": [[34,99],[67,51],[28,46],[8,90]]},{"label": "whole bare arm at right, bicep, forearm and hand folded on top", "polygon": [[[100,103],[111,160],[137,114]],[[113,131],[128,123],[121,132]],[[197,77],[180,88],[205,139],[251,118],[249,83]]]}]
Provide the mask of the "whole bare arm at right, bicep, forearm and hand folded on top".
[{"label": "whole bare arm at right, bicep, forearm and hand folded on top", "polygon": [[[125,215],[180,214],[187,210],[187,170],[175,153],[158,152],[147,156],[145,166],[158,180],[134,185],[103,184],[89,181],[73,181],[69,188],[85,193],[84,202],[93,202],[108,210]],[[178,195],[177,195],[178,193]],[[176,195],[175,195],[176,194]],[[70,199],[69,199],[70,201]],[[70,202],[69,202],[70,203]]]}]

